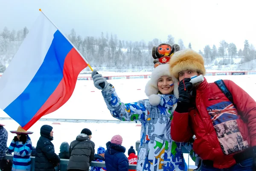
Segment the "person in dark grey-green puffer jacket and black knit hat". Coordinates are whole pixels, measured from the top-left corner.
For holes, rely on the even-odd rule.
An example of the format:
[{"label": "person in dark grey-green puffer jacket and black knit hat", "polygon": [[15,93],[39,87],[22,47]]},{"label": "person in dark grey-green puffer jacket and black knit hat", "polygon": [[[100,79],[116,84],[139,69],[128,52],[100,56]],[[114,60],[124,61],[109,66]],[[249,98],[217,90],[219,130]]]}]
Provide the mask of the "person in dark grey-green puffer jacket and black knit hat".
[{"label": "person in dark grey-green puffer jacket and black knit hat", "polygon": [[67,165],[68,171],[89,171],[90,162],[94,158],[95,144],[90,139],[92,132],[84,128],[70,143],[70,161]]}]

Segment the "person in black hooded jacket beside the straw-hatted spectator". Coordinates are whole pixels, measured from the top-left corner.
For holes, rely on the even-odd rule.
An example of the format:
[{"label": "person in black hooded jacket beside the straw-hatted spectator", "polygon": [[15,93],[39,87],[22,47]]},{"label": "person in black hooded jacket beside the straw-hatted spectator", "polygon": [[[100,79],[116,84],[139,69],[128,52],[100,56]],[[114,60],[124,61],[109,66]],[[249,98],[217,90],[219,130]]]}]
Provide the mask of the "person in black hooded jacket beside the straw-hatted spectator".
[{"label": "person in black hooded jacket beside the straw-hatted spectator", "polygon": [[55,154],[52,144],[53,131],[49,125],[43,125],[40,130],[40,138],[36,145],[35,171],[54,171],[54,167],[60,162]]}]

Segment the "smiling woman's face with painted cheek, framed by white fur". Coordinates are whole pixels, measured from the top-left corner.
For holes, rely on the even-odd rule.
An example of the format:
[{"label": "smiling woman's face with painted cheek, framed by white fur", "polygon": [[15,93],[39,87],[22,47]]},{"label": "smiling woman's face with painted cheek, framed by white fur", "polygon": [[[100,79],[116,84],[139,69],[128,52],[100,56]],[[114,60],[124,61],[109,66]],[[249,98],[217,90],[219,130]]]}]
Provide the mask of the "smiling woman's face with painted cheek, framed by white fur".
[{"label": "smiling woman's face with painted cheek, framed by white fur", "polygon": [[166,76],[166,75],[161,76],[158,79],[157,87],[158,87],[158,90],[162,94],[170,94],[170,93],[172,93],[172,91],[174,89],[172,78],[169,77],[169,76]]}]

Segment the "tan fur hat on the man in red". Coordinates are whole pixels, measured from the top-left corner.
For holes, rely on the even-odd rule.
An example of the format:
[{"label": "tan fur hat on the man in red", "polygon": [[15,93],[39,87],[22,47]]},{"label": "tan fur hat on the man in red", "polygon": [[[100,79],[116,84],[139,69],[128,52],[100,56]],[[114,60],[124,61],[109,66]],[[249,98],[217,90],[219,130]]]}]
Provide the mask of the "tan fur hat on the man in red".
[{"label": "tan fur hat on the man in red", "polygon": [[204,58],[192,49],[184,49],[172,55],[169,61],[170,72],[175,78],[179,79],[179,72],[193,70],[205,75]]}]

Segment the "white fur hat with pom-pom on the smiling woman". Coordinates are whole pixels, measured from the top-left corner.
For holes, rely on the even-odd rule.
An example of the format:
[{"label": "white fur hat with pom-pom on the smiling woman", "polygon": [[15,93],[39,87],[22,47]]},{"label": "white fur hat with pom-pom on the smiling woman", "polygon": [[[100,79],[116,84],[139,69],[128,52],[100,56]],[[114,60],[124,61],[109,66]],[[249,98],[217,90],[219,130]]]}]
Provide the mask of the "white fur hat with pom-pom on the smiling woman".
[{"label": "white fur hat with pom-pom on the smiling woman", "polygon": [[163,75],[168,75],[172,77],[172,80],[174,83],[173,93],[177,99],[179,98],[178,80],[174,76],[170,75],[169,69],[170,69],[170,66],[168,63],[157,66],[153,70],[151,74],[151,78],[145,86],[146,96],[148,96],[149,103],[152,106],[157,106],[158,104],[160,104],[160,100],[161,100],[160,96],[157,96],[157,93],[159,92],[157,82],[158,82],[158,79]]}]

